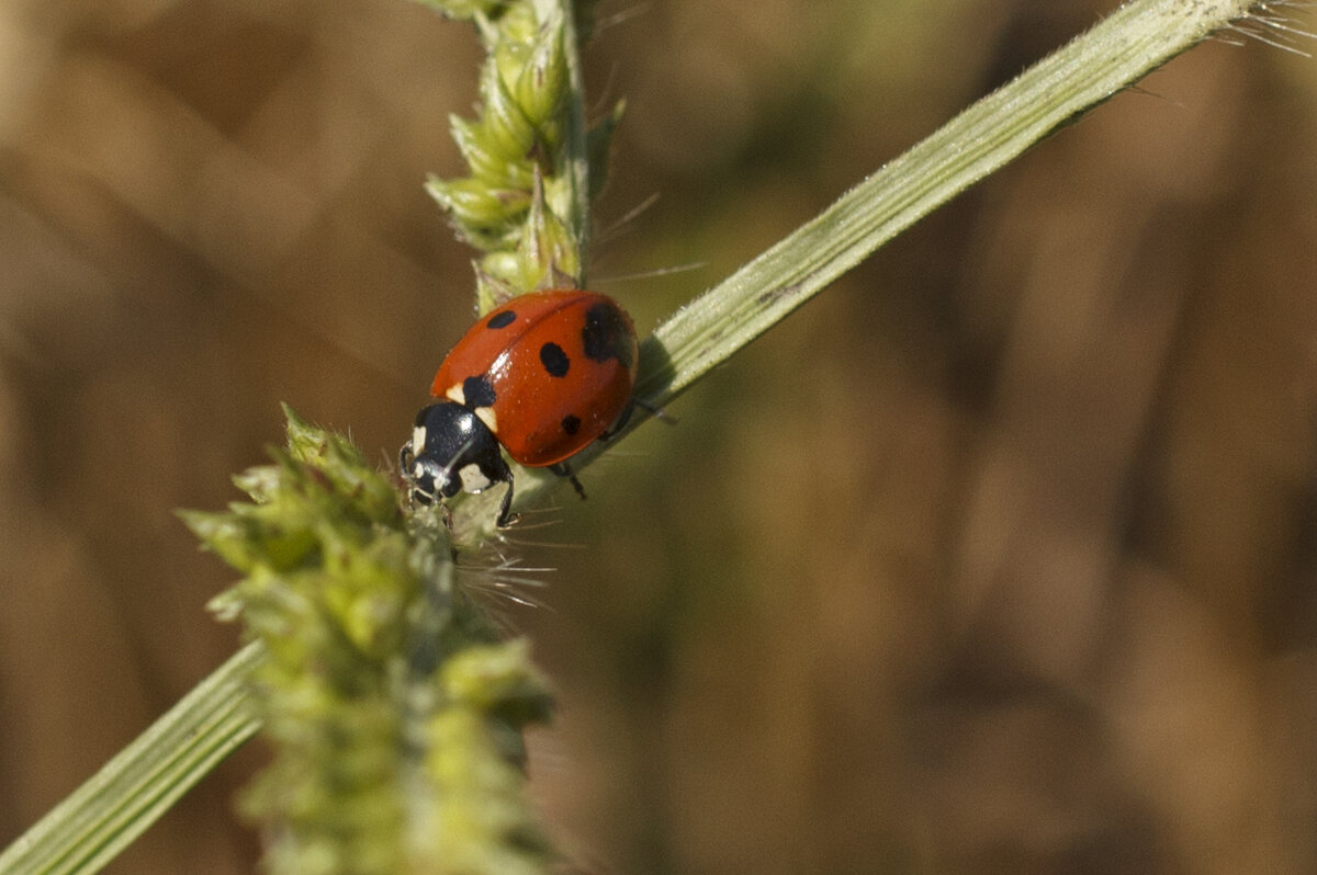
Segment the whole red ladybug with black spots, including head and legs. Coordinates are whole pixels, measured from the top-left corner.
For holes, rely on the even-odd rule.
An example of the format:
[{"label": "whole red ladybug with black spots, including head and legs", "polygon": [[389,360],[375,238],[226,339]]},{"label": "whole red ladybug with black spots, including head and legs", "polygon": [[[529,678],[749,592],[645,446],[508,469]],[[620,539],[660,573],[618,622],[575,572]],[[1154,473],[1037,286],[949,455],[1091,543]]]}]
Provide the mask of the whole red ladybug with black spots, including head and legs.
[{"label": "whole red ladybug with black spots, including head and legs", "polygon": [[510,525],[514,462],[566,466],[620,429],[636,383],[636,330],[616,301],[582,289],[514,297],[479,318],[449,351],[416,414],[399,467],[412,499],[429,504],[507,483],[495,525]]}]

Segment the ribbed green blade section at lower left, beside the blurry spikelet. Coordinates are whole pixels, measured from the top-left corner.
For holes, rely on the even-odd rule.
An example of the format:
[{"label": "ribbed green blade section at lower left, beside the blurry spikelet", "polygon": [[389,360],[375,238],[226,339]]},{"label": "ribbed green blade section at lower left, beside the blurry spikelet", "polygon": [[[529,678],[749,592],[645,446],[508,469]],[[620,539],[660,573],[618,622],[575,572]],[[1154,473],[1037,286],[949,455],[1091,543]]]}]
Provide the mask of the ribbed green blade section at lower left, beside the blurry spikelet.
[{"label": "ribbed green blade section at lower left, beside the blurry spikelet", "polygon": [[262,649],[220,666],[0,854],[0,872],[95,872],[255,734],[244,688]]}]

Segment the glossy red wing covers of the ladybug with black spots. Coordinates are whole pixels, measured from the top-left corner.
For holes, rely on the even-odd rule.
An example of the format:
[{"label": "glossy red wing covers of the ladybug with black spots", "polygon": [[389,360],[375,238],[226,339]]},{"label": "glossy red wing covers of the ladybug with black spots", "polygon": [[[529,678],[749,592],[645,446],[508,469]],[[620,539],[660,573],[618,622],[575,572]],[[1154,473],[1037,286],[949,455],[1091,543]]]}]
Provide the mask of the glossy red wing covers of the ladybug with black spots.
[{"label": "glossy red wing covers of the ladybug with black spots", "polygon": [[547,467],[579,453],[627,411],[636,359],[631,317],[611,297],[531,292],[462,336],[431,395],[474,411],[516,462]]}]

